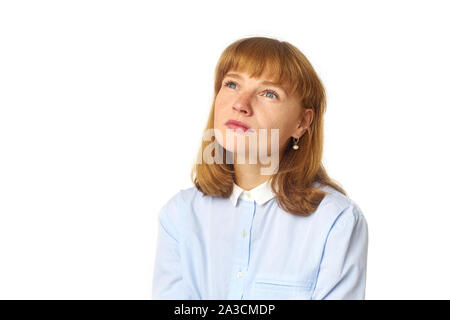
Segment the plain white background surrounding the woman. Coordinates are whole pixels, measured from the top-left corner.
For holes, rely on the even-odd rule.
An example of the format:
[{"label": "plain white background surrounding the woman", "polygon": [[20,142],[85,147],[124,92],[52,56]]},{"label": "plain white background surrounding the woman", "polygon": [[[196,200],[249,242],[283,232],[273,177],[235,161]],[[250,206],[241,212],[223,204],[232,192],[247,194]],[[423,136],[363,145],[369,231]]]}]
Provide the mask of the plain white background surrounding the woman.
[{"label": "plain white background surrounding the woman", "polygon": [[217,60],[268,36],[326,87],[324,164],[369,226],[366,299],[449,299],[446,5],[0,2],[0,298],[150,299]]}]

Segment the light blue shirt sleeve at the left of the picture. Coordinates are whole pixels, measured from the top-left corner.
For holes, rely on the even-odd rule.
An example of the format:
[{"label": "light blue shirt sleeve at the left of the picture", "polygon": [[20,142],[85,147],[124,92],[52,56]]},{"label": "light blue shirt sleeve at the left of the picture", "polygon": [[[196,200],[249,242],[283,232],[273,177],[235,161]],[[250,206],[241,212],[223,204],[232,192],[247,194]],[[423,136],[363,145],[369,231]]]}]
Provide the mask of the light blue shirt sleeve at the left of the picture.
[{"label": "light blue shirt sleeve at the left of the picture", "polygon": [[190,299],[183,281],[180,261],[180,238],[174,210],[176,201],[169,202],[158,215],[158,236],[154,264],[152,299]]}]

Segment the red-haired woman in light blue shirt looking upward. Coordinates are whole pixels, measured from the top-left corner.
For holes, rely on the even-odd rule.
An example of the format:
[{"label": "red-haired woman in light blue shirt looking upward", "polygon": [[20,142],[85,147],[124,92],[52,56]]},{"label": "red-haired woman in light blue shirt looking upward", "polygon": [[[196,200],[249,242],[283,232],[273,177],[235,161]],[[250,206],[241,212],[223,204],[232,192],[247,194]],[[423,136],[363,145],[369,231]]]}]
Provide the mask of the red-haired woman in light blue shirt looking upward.
[{"label": "red-haired woman in light blue shirt looking upward", "polygon": [[325,90],[309,61],[240,39],[214,89],[198,158],[214,148],[214,161],[159,213],[153,299],[364,299],[367,222],[322,165]]}]

